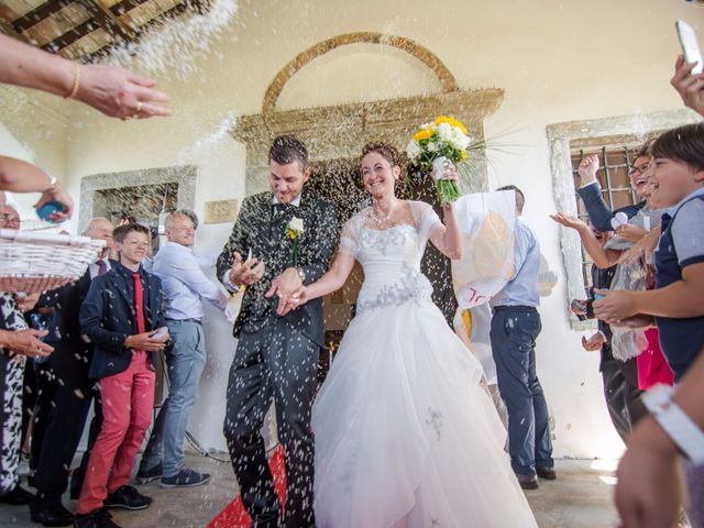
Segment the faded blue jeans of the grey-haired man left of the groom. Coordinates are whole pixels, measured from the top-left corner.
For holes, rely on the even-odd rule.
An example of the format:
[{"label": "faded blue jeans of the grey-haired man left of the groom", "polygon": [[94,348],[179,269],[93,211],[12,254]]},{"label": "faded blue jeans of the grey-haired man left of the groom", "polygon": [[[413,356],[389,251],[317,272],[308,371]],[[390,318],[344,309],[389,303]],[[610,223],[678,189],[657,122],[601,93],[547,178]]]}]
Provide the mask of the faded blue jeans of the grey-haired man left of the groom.
[{"label": "faded blue jeans of the grey-haired man left of the groom", "polygon": [[155,468],[162,458],[162,475],[174,476],[184,466],[184,438],[188,415],[196,403],[200,374],[206,365],[202,327],[190,321],[167,321],[174,348],[166,353],[168,398],[160,411],[146,444],[140,470]]}]

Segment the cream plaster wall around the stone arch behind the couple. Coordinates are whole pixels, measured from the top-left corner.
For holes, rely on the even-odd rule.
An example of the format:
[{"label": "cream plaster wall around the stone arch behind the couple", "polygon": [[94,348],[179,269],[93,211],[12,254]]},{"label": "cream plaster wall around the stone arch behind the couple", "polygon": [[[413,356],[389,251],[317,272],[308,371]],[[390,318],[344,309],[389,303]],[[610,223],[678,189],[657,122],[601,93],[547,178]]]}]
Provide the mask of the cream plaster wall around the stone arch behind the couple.
[{"label": "cream plaster wall around the stone arch behind the couple", "polygon": [[[554,413],[556,454],[608,457],[619,441],[601,392],[598,358],[570,330],[546,127],[551,123],[680,108],[669,78],[678,53],[674,21],[704,29],[704,9],[681,0],[449,0],[439,2],[311,0],[241,2],[237,20],[196,64],[196,74],[162,78],[172,95],[168,120],[120,122],[72,106],[66,145],[69,189],[78,196],[90,174],[174,165],[211,134],[229,112],[255,113],[278,70],[309,46],[353,31],[381,31],[430,48],[463,89],[506,90],[486,121],[491,187],[515,183],[527,197],[526,219],[559,282],[543,298],[538,370]],[[187,56],[184,56],[187,59]],[[433,92],[439,84],[422,64],[383,46],[355,45],[318,58],[284,89],[280,108],[334,105]],[[644,129],[647,123],[644,122]],[[198,212],[206,200],[241,198],[244,150],[224,140],[196,148]],[[205,227],[197,249],[219,250],[229,226]],[[233,343],[209,312],[210,360],[191,429],[207,448],[222,449],[221,421]]]}]

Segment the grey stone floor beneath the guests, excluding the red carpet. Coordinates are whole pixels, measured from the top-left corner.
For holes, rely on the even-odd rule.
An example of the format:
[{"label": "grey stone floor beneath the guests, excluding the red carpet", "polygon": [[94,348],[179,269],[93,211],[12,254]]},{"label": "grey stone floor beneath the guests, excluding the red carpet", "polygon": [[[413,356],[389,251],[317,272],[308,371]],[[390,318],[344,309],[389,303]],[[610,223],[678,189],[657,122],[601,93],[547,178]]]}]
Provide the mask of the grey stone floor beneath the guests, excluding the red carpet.
[{"label": "grey stone floor beneath the guests, excluding the red carpet", "polygon": [[[206,486],[188,490],[162,490],[156,482],[140,486],[142,493],[154,497],[154,504],[143,512],[114,512],[114,520],[123,528],[206,527],[235,495],[237,483],[228,463],[188,455],[188,464],[211,473],[212,480]],[[586,460],[559,460],[557,481],[542,481],[539,490],[526,492],[541,528],[616,526],[609,483],[613,472],[595,470],[593,465]],[[76,507],[73,501],[66,504],[70,509]],[[26,507],[0,505],[0,527],[38,526],[30,520]]]}]

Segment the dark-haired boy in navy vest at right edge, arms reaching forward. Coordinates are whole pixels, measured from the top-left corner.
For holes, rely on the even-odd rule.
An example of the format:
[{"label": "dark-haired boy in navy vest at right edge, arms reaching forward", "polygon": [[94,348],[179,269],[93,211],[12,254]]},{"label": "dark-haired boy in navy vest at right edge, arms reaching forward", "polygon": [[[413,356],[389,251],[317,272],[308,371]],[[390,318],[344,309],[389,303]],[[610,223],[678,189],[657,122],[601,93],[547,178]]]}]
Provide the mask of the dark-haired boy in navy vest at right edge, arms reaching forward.
[{"label": "dark-haired boy in navy vest at right edge, arms reaching forward", "polygon": [[[654,317],[679,384],[704,346],[704,123],[662,134],[652,145],[649,172],[652,199],[671,207],[654,253],[657,287],[601,292],[605,297],[594,302],[594,314],[612,324]],[[704,527],[704,465],[690,465],[686,479],[690,521]]]}]

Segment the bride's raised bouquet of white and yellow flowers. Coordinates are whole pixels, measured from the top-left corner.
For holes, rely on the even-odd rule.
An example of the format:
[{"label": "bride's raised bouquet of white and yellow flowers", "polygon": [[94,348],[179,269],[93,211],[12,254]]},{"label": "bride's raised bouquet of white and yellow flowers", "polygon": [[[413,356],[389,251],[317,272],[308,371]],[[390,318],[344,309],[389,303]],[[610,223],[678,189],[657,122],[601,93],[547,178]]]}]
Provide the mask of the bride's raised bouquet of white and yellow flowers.
[{"label": "bride's raised bouquet of white and yellow flowers", "polygon": [[411,163],[420,165],[426,173],[435,168],[441,205],[454,201],[460,196],[457,182],[442,177],[446,163],[449,161],[457,165],[466,160],[471,143],[464,124],[454,118],[440,116],[433,122],[422,124],[406,146]]}]

